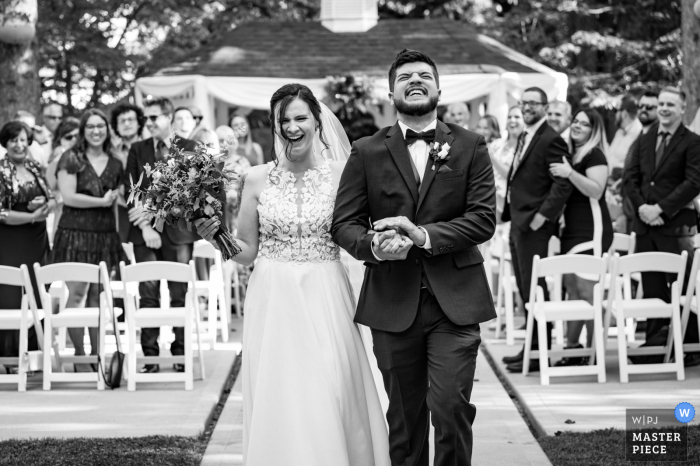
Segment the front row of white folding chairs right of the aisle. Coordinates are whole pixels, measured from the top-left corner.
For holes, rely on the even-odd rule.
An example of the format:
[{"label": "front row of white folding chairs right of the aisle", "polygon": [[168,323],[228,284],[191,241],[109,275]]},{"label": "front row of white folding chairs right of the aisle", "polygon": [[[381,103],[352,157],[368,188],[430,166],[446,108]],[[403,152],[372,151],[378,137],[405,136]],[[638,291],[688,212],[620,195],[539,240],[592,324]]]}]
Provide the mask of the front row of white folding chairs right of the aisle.
[{"label": "front row of white folding chairs right of the aisle", "polygon": [[[609,260],[610,259],[610,260]],[[523,374],[529,372],[530,358],[539,358],[540,380],[543,385],[548,385],[551,377],[571,375],[597,375],[598,382],[606,381],[605,374],[605,344],[607,342],[611,317],[617,321],[618,359],[620,365],[620,381],[629,381],[630,374],[667,373],[676,374],[678,380],[685,379],[683,367],[684,350],[700,349],[700,345],[683,345],[683,334],[688,322],[688,313],[692,311],[692,303],[697,303],[697,287],[688,290],[685,299],[686,306],[681,318],[681,295],[683,280],[687,263],[687,252],[682,254],[669,254],[663,252],[646,252],[629,254],[620,257],[615,253],[612,258],[606,254],[602,258],[587,255],[564,255],[540,259],[538,256],[533,261],[532,282],[530,283],[530,302],[526,303],[528,320],[526,328],[525,352],[523,355]],[[700,268],[700,253],[695,254],[693,269],[696,270],[692,277],[697,281],[697,269]],[[637,299],[632,295],[630,284],[632,274],[645,272],[661,272],[674,274],[676,280],[671,285],[671,303],[666,303],[658,298]],[[595,277],[597,282],[594,287],[593,304],[583,300],[544,300],[544,291],[538,286],[538,279],[542,277],[562,277],[565,274],[586,274],[587,278]],[[607,277],[610,277],[607,300],[603,300]],[[695,290],[695,291],[694,291]],[[628,319],[638,318],[669,318],[671,330],[666,345],[656,347],[634,348],[629,347],[625,335],[625,326]],[[565,322],[577,320],[592,320],[594,332],[594,344],[591,348],[548,350],[547,322]],[[686,324],[683,324],[685,322]],[[534,325],[538,326],[538,350],[531,350],[532,331]],[[672,358],[672,351],[673,356]],[[658,364],[634,364],[628,363],[631,355],[664,356],[663,362]],[[549,360],[553,357],[581,357],[589,358],[588,366],[550,367]]]}]

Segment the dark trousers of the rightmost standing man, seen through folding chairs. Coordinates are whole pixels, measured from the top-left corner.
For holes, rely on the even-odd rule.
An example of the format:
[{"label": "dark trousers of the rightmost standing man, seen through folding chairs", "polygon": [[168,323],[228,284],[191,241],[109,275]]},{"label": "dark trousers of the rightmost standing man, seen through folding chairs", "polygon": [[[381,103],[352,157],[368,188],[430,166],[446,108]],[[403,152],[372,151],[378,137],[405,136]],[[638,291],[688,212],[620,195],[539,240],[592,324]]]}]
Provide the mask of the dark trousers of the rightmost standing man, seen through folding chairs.
[{"label": "dark trousers of the rightmost standing man, seen through folding chairs", "polygon": [[[683,289],[679,290],[681,294],[685,293],[690,279],[690,268],[693,262],[693,254],[695,248],[693,245],[692,236],[666,236],[659,233],[647,233],[637,236],[636,252],[670,252],[672,254],[681,254],[683,251],[688,251],[688,264],[685,267],[685,279],[683,280]],[[664,302],[671,302],[671,283],[676,280],[674,274],[665,274],[662,272],[644,272],[642,273],[642,288],[644,289],[645,298],[659,298]],[[694,278],[693,278],[694,279]],[[683,303],[681,303],[681,312]],[[663,327],[668,326],[671,319],[647,319],[646,338],[647,341],[654,335],[659,333]],[[684,343],[698,342],[698,316],[690,313],[688,319],[688,330],[685,334]]]}]

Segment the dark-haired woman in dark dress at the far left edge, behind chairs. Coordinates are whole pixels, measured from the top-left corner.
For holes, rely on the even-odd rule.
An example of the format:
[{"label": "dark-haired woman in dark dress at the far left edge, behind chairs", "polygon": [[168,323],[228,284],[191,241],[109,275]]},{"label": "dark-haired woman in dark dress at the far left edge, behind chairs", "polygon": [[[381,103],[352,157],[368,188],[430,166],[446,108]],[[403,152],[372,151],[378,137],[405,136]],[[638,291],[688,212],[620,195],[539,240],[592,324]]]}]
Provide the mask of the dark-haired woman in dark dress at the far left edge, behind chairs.
[{"label": "dark-haired woman in dark dress at the far left edge, behind chairs", "polygon": [[[0,265],[29,268],[37,306],[41,306],[34,263],[43,264],[49,252],[46,217],[55,207],[53,195],[39,165],[28,157],[32,131],[19,121],[0,129],[0,145],[7,154],[0,159]],[[22,289],[0,285],[2,309],[20,309]],[[38,349],[34,327],[29,329],[29,349]],[[0,357],[19,356],[19,330],[0,330]],[[5,367],[7,373],[16,368]]]}]

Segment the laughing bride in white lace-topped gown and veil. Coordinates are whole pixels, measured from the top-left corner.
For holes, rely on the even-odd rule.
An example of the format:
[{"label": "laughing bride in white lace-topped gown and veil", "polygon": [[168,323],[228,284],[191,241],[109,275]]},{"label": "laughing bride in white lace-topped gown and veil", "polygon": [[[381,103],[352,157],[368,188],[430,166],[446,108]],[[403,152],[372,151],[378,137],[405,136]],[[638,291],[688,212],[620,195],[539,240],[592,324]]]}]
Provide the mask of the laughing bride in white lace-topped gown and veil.
[{"label": "laughing bride in white lace-topped gown and veil", "polygon": [[[385,466],[384,415],[330,227],[350,145],[301,84],[270,101],[275,160],[244,183],[234,258],[256,258],[243,332],[248,466]],[[195,222],[212,241],[214,219]]]}]

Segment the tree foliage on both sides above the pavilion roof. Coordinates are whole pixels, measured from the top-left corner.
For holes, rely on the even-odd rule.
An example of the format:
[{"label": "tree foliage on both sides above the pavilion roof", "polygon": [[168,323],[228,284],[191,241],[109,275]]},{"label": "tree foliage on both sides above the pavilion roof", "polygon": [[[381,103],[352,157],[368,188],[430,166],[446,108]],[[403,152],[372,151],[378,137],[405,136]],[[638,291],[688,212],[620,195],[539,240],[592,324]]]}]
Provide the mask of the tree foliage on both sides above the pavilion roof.
[{"label": "tree foliage on both sides above the pavilion roof", "polygon": [[[118,101],[137,77],[238,24],[317,20],[320,0],[39,0],[39,8],[43,97],[82,109]],[[680,0],[379,0],[379,13],[470,23],[567,73],[572,99],[681,77]]]}]

